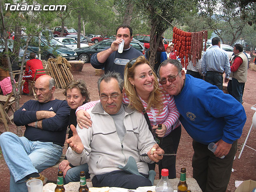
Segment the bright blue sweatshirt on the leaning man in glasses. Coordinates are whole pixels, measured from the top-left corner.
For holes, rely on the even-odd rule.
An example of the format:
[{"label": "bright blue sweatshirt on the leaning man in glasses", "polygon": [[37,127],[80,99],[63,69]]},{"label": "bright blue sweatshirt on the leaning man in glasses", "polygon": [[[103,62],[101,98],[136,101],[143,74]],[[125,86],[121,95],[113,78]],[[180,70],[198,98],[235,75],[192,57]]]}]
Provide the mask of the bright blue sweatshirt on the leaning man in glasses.
[{"label": "bright blue sweatshirt on the leaning man in glasses", "polygon": [[246,122],[244,107],[216,86],[186,75],[184,88],[174,100],[180,122],[195,141],[209,144],[222,139],[232,144],[240,138]]}]

